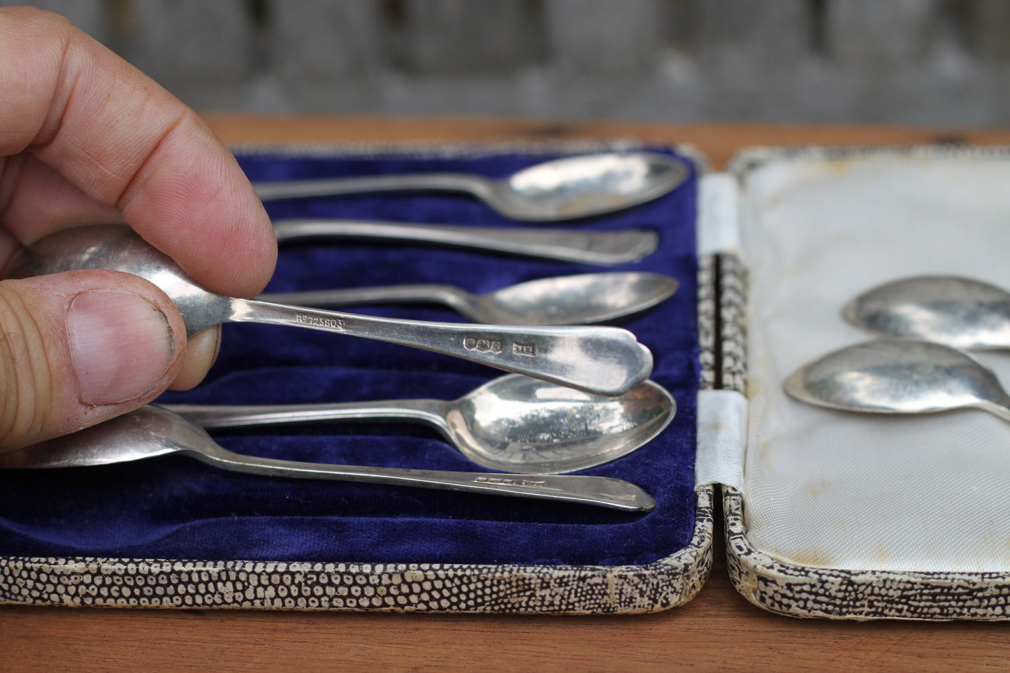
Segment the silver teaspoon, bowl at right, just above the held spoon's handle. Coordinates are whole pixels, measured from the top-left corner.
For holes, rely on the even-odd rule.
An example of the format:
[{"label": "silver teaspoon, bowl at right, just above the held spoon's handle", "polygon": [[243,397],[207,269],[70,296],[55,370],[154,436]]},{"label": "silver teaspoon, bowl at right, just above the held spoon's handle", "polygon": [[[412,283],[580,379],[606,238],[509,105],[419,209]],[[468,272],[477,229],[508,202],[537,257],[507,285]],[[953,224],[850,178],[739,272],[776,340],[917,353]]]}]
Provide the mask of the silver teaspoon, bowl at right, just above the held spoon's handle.
[{"label": "silver teaspoon, bowl at right, just above the held spoon's handle", "polygon": [[427,302],[444,304],[475,322],[588,324],[655,306],[676,292],[677,285],[662,274],[614,272],[541,278],[484,294],[451,285],[386,285],[267,293],[258,298],[299,306]]}]

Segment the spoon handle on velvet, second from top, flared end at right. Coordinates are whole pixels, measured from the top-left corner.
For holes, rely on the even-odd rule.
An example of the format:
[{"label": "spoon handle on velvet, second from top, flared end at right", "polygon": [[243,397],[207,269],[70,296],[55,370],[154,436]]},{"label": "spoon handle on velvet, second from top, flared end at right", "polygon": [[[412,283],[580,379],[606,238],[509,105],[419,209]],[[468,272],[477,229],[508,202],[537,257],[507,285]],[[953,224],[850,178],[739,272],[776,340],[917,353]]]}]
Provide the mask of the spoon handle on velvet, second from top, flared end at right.
[{"label": "spoon handle on velvet, second from top, flared end at right", "polygon": [[440,244],[525,257],[611,266],[655,252],[651,229],[569,231],[448,224],[404,224],[354,219],[287,219],[274,224],[278,243],[306,238],[371,238]]}]

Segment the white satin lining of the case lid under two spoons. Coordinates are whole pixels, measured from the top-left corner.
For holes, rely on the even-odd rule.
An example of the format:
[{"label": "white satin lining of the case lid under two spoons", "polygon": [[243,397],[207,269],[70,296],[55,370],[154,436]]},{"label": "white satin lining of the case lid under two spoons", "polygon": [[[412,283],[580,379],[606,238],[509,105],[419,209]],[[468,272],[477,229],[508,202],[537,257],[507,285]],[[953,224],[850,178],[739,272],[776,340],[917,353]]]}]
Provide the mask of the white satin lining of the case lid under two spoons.
[{"label": "white satin lining of the case lid under two spoons", "polygon": [[[878,283],[939,273],[1010,288],[1010,159],[784,158],[743,178],[751,544],[809,566],[1010,571],[1010,423],[840,413],[781,387],[869,339],[839,311]],[[982,357],[1010,385],[1010,353]]]}]

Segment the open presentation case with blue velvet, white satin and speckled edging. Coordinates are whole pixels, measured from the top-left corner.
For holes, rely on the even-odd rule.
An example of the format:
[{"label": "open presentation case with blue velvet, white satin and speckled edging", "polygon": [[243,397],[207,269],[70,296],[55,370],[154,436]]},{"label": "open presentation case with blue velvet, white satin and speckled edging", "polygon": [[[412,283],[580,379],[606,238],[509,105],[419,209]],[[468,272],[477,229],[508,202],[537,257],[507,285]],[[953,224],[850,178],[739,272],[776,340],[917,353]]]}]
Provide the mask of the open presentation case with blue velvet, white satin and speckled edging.
[{"label": "open presentation case with blue velvet, white satin and speckled edging", "polygon": [[[405,172],[506,176],[632,142],[242,148],[252,180]],[[690,600],[711,568],[721,495],[728,566],[756,605],[793,616],[1004,618],[1010,428],[982,411],[873,417],[814,408],[783,380],[870,339],[842,305],[880,282],[958,274],[1010,287],[1003,150],[754,149],[614,215],[506,220],[462,195],[268,204],[275,221],[338,217],[495,227],[649,228],[613,270],[677,293],[617,323],[655,357],[678,411],[639,451],[585,474],[658,500],[647,514],[412,488],[225,473],[182,457],[0,474],[0,600],[10,603],[529,613],[640,613]],[[367,238],[282,247],[271,291],[451,283],[486,292],[606,270]],[[425,307],[362,312],[461,319]],[[1010,360],[981,354],[1004,380]],[[229,324],[207,381],[163,401],[454,399],[497,374],[403,347]],[[319,424],[215,435],[314,462],[473,471],[434,430]]]}]

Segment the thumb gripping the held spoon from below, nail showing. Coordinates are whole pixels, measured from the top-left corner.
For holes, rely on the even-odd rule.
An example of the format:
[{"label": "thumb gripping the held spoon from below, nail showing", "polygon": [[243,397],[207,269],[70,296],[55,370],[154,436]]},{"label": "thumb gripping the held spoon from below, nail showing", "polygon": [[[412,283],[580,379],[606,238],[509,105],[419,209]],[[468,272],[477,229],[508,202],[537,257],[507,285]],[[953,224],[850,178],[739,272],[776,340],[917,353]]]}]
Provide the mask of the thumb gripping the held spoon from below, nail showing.
[{"label": "thumb gripping the held spoon from below, nail showing", "polygon": [[186,351],[168,296],[115,271],[0,282],[0,452],[145,404]]}]

